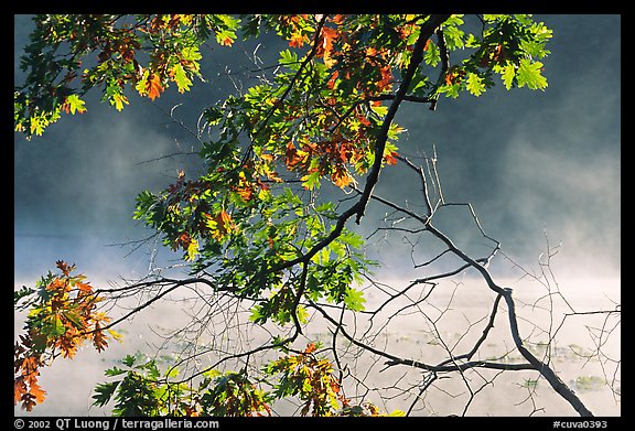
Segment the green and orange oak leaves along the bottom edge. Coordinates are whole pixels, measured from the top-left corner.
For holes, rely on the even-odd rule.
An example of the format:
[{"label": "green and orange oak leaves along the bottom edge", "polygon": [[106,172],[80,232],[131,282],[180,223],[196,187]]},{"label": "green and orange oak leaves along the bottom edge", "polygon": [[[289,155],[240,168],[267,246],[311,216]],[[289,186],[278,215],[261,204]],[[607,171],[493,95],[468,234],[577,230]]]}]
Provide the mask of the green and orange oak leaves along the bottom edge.
[{"label": "green and orange oak leaves along the bottom edge", "polygon": [[[99,384],[93,396],[98,407],[114,402],[112,414],[249,417],[272,416],[276,400],[295,397],[303,402],[301,416],[386,416],[370,402],[354,406],[344,396],[333,363],[321,357],[316,343],[295,354],[287,353],[262,369],[265,380],[256,382],[246,368],[220,373],[208,369],[202,379],[179,381],[177,368],[165,373],[155,359],[128,355],[123,367],[106,370],[111,381]],[[272,390],[260,387],[267,382]],[[396,410],[389,416],[402,416]]]}]

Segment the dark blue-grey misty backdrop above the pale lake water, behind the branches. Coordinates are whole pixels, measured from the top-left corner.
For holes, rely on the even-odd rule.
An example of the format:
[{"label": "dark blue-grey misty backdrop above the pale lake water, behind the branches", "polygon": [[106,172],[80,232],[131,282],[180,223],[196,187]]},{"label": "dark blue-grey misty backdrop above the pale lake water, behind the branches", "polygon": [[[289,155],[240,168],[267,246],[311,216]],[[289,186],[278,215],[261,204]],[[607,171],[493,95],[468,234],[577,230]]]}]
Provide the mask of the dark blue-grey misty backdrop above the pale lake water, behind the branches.
[{"label": "dark blue-grey misty backdrop above the pale lake water, behind the branches", "polygon": [[[405,105],[397,118],[407,129],[399,150],[416,158],[435,149],[446,200],[470,202],[484,229],[515,259],[534,261],[543,251],[547,234],[552,244],[562,243],[559,265],[564,272],[617,276],[621,18],[535,19],[555,34],[552,53],[545,61],[546,91],[507,91],[499,85],[478,98],[442,99],[434,112]],[[15,65],[30,21],[17,15],[17,23]],[[275,61],[279,46],[259,43],[207,53],[203,69],[216,75],[197,82],[191,94],[169,90],[157,104],[131,96],[121,112],[99,104],[93,94],[85,115],[66,116],[30,142],[15,134],[14,250],[17,256],[24,256],[24,248],[30,254],[30,259],[15,259],[17,273],[44,269],[34,265],[40,259],[33,250],[49,255],[51,235],[78,241],[99,238],[104,245],[143,235],[131,220],[136,195],[144,188],[161,190],[187,160],[196,161],[195,155],[165,159],[196,149],[194,139],[166,112],[179,105],[174,117],[195,129],[207,104],[248,84],[237,71],[249,67],[255,57],[263,64]],[[18,71],[17,82],[20,78]],[[405,181],[412,187],[395,192],[394,184]],[[377,192],[412,201],[416,184],[417,179],[399,166],[388,166]],[[379,216],[384,211],[376,204],[372,209]],[[71,252],[60,258],[82,266],[88,256]]]}]

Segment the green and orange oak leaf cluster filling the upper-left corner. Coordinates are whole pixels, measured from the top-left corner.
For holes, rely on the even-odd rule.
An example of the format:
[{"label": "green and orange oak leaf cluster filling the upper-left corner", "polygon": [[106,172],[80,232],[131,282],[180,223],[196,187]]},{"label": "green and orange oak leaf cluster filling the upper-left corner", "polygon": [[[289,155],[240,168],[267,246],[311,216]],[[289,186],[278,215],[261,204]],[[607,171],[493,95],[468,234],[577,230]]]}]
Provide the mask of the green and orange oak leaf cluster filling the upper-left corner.
[{"label": "green and orange oak leaf cluster filling the upper-left corner", "polygon": [[237,20],[205,14],[40,14],[14,89],[14,128],[41,136],[62,114],[86,111],[84,96],[101,87],[101,100],[122,110],[126,88],[154,100],[174,83],[190,90],[202,78],[200,46],[212,34],[220,45],[236,39]]}]

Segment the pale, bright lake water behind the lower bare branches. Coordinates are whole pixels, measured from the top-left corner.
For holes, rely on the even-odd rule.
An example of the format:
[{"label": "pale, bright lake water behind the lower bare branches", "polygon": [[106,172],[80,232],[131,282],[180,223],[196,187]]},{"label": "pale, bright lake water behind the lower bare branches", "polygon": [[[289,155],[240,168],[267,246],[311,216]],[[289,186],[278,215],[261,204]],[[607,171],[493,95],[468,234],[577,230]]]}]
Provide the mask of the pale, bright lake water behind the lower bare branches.
[{"label": "pale, bright lake water behind the lower bare branches", "polygon": [[[30,282],[26,282],[30,283]],[[17,283],[21,285],[22,283]],[[97,283],[93,283],[98,285]],[[405,287],[407,281],[392,281],[395,288]],[[620,416],[621,399],[604,382],[615,379],[613,388],[621,391],[621,367],[615,360],[621,359],[621,334],[620,327],[611,333],[600,334],[600,330],[615,326],[618,316],[607,317],[606,314],[578,314],[569,315],[562,323],[563,313],[571,313],[571,305],[575,312],[585,313],[595,310],[613,310],[621,302],[620,280],[567,280],[558,285],[560,292],[568,299],[564,303],[559,294],[555,294],[555,285],[550,285],[551,295],[547,295],[547,288],[534,282],[518,282],[510,280],[508,283],[514,289],[517,300],[517,313],[519,315],[519,328],[524,337],[527,337],[527,346],[539,357],[543,357],[547,351],[545,344],[549,341],[549,333],[557,334],[550,351],[551,366],[560,378],[568,382],[586,407],[596,416]],[[426,288],[429,289],[429,288]],[[417,301],[423,298],[426,289],[411,289],[410,298]],[[191,293],[194,293],[192,291]],[[376,308],[385,295],[379,291],[366,291],[367,310]],[[364,319],[346,321],[345,328],[356,331],[360,335],[366,332],[368,342],[376,348],[390,352],[395,355],[409,357],[427,364],[435,364],[446,357],[448,349],[455,355],[471,348],[475,340],[481,335],[487,323],[494,295],[482,282],[464,280],[460,283],[440,284],[427,301],[421,302],[418,309],[409,308],[396,314],[399,306],[395,301],[390,306],[374,317],[373,326]],[[549,313],[546,309],[553,309]],[[416,312],[415,312],[416,311]],[[187,313],[192,314],[195,309],[183,298],[173,298],[157,306],[144,310],[131,322],[120,326],[123,333],[123,343],[112,343],[111,346],[97,354],[92,347],[84,347],[75,359],[58,358],[53,366],[42,370],[40,382],[47,391],[47,399],[41,406],[36,406],[31,413],[14,408],[17,416],[108,416],[108,409],[99,409],[92,406],[92,396],[95,385],[107,381],[104,370],[118,364],[118,360],[127,354],[141,351],[148,354],[161,343],[161,334],[171,327],[187,326]],[[246,310],[248,312],[248,310]],[[553,319],[550,319],[550,315]],[[245,324],[246,315],[236,320],[226,320],[227,316],[217,316],[211,321],[215,331],[223,332],[219,324],[232,322]],[[238,317],[236,317],[238,319]],[[380,324],[388,322],[385,327]],[[561,324],[562,323],[562,324]],[[18,334],[21,330],[21,316],[17,316],[14,330]],[[190,328],[194,330],[196,324]],[[556,332],[556,328],[559,330]],[[295,344],[302,348],[312,340],[320,340],[324,344],[331,343],[330,328],[332,325],[320,321],[306,326],[305,338],[300,337]],[[492,359],[506,356],[509,363],[520,362],[518,353],[513,348],[509,336],[506,309],[501,305],[496,316],[495,326],[491,336],[478,349],[474,357]],[[204,334],[201,330],[200,334]],[[207,340],[232,347],[232,344],[244,347],[254,347],[266,340],[266,332],[256,328],[249,336],[238,338],[229,335],[229,330],[224,336],[216,338],[211,335],[200,336],[200,343]],[[602,335],[602,336],[599,336]],[[225,344],[223,344],[225,343]],[[602,352],[606,356],[588,358],[602,344]],[[177,344],[170,344],[177,347]],[[351,369],[357,371],[362,382],[347,380],[346,395],[352,396],[366,394],[383,410],[407,410],[419,390],[422,374],[415,368],[405,366],[387,367],[385,358],[369,354],[355,357],[354,349],[346,352],[342,346],[343,357],[348,358]],[[169,352],[166,352],[169,354]],[[207,356],[213,358],[212,355]],[[204,358],[203,356],[201,357]],[[413,416],[575,416],[573,409],[562,400],[549,387],[545,379],[538,379],[536,371],[498,371],[473,369],[463,376],[452,374],[453,378],[439,378],[424,392],[424,397],[415,403]],[[445,376],[443,376],[445,377]],[[408,388],[410,398],[400,396],[400,390],[395,388]],[[377,396],[376,389],[384,388],[384,398]],[[392,389],[391,389],[392,388]],[[471,394],[472,392],[472,394]],[[473,397],[472,397],[473,396]],[[290,416],[297,411],[292,403],[281,403],[277,411],[281,416]]]}]

